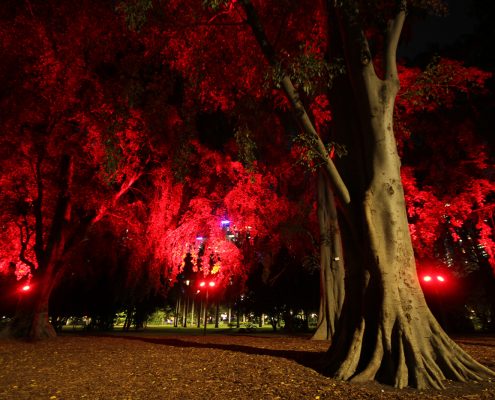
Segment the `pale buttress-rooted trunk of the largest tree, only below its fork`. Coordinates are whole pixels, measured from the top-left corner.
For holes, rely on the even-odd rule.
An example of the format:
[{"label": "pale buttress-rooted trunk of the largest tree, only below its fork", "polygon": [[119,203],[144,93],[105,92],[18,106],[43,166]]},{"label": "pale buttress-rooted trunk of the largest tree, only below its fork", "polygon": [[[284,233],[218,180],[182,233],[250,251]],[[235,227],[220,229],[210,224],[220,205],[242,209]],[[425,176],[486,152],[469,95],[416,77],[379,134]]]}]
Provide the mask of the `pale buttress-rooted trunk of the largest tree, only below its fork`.
[{"label": "pale buttress-rooted trunk of the largest tree, only below its fork", "polygon": [[364,165],[366,180],[350,190],[360,233],[345,249],[346,254],[359,250],[361,262],[346,260],[343,318],[327,354],[327,371],[339,379],[376,379],[395,387],[482,380],[493,372],[441,329],[417,278],[392,128],[398,81],[378,79],[369,64],[356,70],[351,80],[360,99],[364,151],[351,157],[363,158],[357,164]]}]

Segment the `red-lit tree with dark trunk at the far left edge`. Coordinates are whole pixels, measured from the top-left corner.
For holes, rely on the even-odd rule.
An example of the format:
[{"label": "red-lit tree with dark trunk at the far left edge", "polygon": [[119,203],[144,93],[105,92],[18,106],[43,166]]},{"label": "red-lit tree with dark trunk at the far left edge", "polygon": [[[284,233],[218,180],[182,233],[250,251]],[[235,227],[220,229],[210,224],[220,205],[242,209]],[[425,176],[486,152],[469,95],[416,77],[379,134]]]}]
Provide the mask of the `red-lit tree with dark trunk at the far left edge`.
[{"label": "red-lit tree with dark trunk at the far left edge", "polygon": [[98,79],[101,57],[129,42],[94,47],[97,37],[118,36],[115,24],[93,23],[94,36],[82,34],[92,20],[87,11],[113,21],[112,11],[51,6],[2,7],[14,16],[1,30],[9,85],[2,107],[1,239],[12,243],[1,259],[30,277],[8,333],[31,339],[54,335],[49,298],[70,268],[71,252],[143,174],[149,154],[139,112],[126,101],[111,102],[124,90]]}]

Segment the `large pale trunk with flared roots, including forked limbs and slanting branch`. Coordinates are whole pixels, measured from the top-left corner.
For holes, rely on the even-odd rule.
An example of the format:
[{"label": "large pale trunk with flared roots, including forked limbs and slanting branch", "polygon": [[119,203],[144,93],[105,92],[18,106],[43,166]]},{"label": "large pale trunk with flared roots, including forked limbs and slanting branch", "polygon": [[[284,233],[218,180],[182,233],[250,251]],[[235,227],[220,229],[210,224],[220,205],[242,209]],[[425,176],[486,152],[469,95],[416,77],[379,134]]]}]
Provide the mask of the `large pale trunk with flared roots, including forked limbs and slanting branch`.
[{"label": "large pale trunk with flared roots, including forked limbs and slanting branch", "polygon": [[[272,65],[276,57],[249,0],[241,4],[247,22]],[[393,108],[399,81],[396,49],[405,19],[405,0],[389,21],[385,40],[384,80],[374,71],[358,3],[336,3],[355,112],[360,121],[342,137],[347,141],[349,187],[321,149],[290,78],[281,86],[325,169],[344,211],[346,287],[326,368],[338,379],[379,380],[396,387],[441,388],[445,379],[482,380],[495,373],[474,361],[441,329],[419,286],[407,222],[400,160],[393,132]],[[350,146],[349,146],[350,145]],[[329,161],[330,160],[330,161]]]}]

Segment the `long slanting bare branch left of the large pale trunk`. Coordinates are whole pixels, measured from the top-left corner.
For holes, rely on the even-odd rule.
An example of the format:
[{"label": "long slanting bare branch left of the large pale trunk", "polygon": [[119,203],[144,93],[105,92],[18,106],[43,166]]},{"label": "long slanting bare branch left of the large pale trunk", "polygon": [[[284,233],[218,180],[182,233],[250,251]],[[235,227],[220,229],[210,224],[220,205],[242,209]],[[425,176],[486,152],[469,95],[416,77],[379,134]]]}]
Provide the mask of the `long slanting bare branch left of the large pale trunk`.
[{"label": "long slanting bare branch left of the large pale trunk", "polygon": [[[273,47],[271,46],[268,38],[266,37],[265,31],[261,24],[261,21],[258,18],[258,14],[252,5],[250,0],[242,0],[240,4],[244,8],[244,11],[247,15],[247,23],[251,27],[253,34],[258,41],[258,44],[261,47],[263,54],[266,59],[270,63],[271,66],[277,66],[278,60],[275,54]],[[320,155],[322,160],[325,161],[325,169],[328,172],[330,182],[334,188],[335,193],[337,194],[340,202],[342,204],[349,204],[351,199],[349,195],[349,191],[344,184],[335,164],[332,159],[328,156],[328,151],[325,148],[325,145],[321,141],[320,136],[316,132],[313,123],[311,122],[304,105],[299,97],[297,90],[294,88],[292,81],[288,74],[284,73],[282,82],[282,88],[285,92],[285,95],[289,99],[292,107],[294,109],[295,116],[301,125],[301,128],[304,130],[304,133],[308,135],[309,139],[313,143],[313,149]]]}]

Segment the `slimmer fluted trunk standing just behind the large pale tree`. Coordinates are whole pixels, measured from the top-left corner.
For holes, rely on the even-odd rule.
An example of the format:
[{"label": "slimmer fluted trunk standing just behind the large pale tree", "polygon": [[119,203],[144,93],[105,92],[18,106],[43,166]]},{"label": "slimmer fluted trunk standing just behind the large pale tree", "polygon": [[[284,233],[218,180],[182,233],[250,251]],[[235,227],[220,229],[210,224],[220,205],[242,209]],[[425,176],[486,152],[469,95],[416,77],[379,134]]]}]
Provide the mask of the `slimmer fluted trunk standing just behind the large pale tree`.
[{"label": "slimmer fluted trunk standing just behind the large pale tree", "polygon": [[320,311],[312,337],[331,340],[344,302],[344,264],[337,208],[324,171],[318,177],[320,226]]}]

